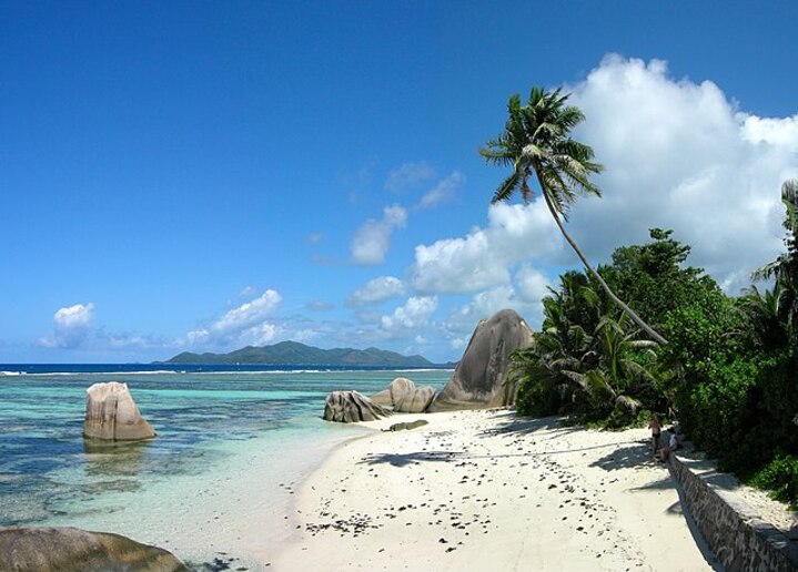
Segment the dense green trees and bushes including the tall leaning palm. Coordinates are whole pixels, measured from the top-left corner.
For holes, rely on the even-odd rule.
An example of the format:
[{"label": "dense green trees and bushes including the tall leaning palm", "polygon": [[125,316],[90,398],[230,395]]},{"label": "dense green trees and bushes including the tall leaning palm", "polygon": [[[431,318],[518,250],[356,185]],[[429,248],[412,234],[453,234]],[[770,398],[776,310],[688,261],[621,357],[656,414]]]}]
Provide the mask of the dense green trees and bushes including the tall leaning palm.
[{"label": "dense green trees and bushes including the tall leaning palm", "polygon": [[689,266],[690,247],[667,229],[594,269],[564,221],[578,194],[599,195],[588,176],[602,166],[570,139],[584,116],[567,99],[534,88],[522,105],[513,95],[505,131],[481,150],[512,167],[493,200],[519,190],[529,201],[534,175],[586,268],[549,288],[541,331],[513,356],[518,411],[605,428],[678,418],[720,469],[798,504],[798,181],[781,188],[786,252],[741,296]]}]

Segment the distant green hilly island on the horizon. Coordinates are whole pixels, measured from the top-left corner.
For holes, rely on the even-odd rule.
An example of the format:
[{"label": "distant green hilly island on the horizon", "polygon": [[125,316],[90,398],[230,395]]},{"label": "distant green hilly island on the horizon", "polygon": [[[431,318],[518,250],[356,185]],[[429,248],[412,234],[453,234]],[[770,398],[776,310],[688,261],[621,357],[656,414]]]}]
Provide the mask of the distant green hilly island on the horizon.
[{"label": "distant green hilly island on the horizon", "polygon": [[403,356],[377,348],[321,349],[299,341],[236,349],[230,354],[192,354],[183,351],[163,364],[178,365],[263,365],[263,366],[377,366],[428,367],[434,364],[422,356]]}]

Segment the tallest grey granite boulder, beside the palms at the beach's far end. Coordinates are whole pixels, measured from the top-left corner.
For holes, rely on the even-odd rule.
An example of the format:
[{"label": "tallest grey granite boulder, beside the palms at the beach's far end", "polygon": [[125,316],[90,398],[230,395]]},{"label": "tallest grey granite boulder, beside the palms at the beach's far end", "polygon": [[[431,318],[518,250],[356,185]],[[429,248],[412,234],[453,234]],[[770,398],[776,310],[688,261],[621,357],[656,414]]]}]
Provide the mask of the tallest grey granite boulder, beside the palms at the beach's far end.
[{"label": "tallest grey granite boulder, beside the palms at the beach's far end", "polygon": [[515,402],[516,376],[509,355],[532,344],[529,326],[515,311],[504,309],[481,321],[452,379],[427,411],[487,409]]}]

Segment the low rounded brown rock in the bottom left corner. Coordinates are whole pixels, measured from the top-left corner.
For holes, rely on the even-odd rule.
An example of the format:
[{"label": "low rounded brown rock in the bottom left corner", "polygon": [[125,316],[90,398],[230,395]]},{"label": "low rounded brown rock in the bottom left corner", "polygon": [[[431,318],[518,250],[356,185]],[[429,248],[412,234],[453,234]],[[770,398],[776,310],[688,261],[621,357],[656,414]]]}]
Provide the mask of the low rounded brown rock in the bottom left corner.
[{"label": "low rounded brown rock in the bottom left corner", "polygon": [[73,528],[0,529],[0,570],[186,571],[172,553],[129,538]]}]

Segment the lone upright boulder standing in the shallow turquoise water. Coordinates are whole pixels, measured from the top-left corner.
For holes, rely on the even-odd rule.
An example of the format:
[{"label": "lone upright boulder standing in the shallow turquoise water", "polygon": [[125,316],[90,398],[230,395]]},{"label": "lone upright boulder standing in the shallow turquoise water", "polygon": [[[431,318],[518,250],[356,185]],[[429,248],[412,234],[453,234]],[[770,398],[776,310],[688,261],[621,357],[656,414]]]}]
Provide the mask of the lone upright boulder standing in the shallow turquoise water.
[{"label": "lone upright boulder standing in the shallow turquoise water", "polygon": [[128,384],[109,381],[87,389],[83,436],[108,441],[138,441],[155,437],[133,401]]}]

